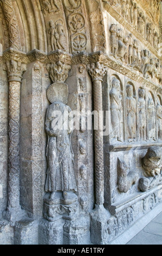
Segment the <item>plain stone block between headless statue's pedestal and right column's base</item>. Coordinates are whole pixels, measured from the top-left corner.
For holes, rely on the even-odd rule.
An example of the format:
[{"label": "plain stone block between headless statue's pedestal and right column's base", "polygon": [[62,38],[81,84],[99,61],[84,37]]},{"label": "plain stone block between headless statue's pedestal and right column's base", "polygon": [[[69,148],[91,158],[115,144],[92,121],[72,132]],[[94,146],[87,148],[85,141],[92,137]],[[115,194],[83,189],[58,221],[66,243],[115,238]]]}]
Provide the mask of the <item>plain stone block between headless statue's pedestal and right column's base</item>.
[{"label": "plain stone block between headless statue's pedestal and right column's base", "polygon": [[63,227],[63,245],[89,245],[90,221],[80,217],[74,221],[66,220]]}]

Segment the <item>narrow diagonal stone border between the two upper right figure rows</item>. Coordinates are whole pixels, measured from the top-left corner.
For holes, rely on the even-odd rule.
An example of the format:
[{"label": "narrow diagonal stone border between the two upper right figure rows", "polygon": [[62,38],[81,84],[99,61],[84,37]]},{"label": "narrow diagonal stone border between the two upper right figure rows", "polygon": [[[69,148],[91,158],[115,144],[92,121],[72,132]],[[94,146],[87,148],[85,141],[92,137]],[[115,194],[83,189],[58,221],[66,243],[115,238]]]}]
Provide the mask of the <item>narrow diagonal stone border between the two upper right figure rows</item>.
[{"label": "narrow diagonal stone border between the two upper right figure rows", "polygon": [[118,11],[116,11],[111,4],[109,4],[107,1],[103,2],[104,9],[111,14],[116,21],[118,21],[122,26],[124,26],[129,32],[131,32],[136,38],[138,38],[142,44],[148,48],[158,59],[162,60],[162,58],[158,55],[158,52],[149,44],[149,42],[144,39],[132,26],[129,24],[128,21],[122,17]]}]

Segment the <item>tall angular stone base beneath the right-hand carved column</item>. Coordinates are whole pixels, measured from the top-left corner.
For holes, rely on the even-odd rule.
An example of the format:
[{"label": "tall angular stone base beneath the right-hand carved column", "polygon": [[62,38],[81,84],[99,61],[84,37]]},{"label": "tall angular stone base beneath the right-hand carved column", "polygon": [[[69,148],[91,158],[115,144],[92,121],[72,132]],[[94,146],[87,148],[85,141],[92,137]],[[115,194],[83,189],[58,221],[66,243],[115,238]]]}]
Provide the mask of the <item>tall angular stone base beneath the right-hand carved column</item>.
[{"label": "tall angular stone base beneath the right-hand carved column", "polygon": [[110,216],[103,205],[95,205],[90,213],[90,240],[94,245],[103,245],[103,231]]}]

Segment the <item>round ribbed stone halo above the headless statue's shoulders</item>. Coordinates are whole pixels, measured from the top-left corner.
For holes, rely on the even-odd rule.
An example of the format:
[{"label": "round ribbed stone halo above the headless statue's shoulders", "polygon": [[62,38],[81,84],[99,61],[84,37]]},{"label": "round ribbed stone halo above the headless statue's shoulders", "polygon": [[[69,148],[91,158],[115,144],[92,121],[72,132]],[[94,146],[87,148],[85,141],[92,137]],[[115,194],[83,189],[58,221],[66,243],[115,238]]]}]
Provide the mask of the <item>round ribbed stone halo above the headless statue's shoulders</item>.
[{"label": "round ribbed stone halo above the headless statue's shoulders", "polygon": [[59,101],[67,104],[68,94],[68,85],[63,82],[53,83],[47,89],[47,98],[51,103]]}]

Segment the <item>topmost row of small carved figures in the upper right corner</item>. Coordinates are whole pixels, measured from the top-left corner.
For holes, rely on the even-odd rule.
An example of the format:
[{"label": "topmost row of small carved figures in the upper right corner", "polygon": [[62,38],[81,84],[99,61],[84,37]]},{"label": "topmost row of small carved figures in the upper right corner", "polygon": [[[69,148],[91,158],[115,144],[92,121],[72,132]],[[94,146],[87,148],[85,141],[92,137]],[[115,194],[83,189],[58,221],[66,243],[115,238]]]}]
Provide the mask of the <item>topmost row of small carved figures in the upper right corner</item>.
[{"label": "topmost row of small carved figures in the upper right corner", "polygon": [[[144,11],[138,7],[134,0],[108,0],[113,8],[126,19],[138,33],[158,50],[159,34],[153,27],[153,23],[147,21]],[[150,2],[150,15],[153,20],[158,19],[160,0]]]}]

